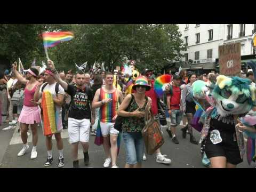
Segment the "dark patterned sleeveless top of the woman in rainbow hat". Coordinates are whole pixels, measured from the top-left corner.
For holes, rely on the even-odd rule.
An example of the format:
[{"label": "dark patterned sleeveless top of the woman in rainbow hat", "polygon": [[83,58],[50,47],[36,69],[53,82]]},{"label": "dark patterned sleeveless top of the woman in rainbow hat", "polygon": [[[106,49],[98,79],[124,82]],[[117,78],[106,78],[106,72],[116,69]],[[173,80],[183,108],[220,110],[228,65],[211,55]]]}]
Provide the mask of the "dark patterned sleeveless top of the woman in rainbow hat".
[{"label": "dark patterned sleeveless top of the woman in rainbow hat", "polygon": [[[148,97],[145,95],[145,104],[139,111],[145,111],[146,105],[148,103]],[[130,107],[128,107],[125,111],[133,112],[139,108],[138,104],[136,103],[135,99],[133,99]],[[132,133],[132,132],[141,132],[143,127],[145,127],[145,117],[123,117],[123,124],[122,129],[123,132]]]}]

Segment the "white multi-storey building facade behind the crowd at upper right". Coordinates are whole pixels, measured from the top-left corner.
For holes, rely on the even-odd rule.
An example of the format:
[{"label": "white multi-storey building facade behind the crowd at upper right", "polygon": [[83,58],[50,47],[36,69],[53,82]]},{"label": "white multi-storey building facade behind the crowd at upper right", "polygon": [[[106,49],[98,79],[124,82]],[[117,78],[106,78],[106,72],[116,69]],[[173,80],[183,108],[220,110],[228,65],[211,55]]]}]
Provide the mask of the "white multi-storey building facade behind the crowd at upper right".
[{"label": "white multi-storey building facade behind the crowd at upper right", "polygon": [[[175,67],[209,73],[218,70],[218,49],[220,45],[241,42],[241,56],[244,63],[256,59],[251,45],[256,24],[178,24],[187,51],[184,58],[175,61]],[[243,59],[243,57],[245,59]]]}]

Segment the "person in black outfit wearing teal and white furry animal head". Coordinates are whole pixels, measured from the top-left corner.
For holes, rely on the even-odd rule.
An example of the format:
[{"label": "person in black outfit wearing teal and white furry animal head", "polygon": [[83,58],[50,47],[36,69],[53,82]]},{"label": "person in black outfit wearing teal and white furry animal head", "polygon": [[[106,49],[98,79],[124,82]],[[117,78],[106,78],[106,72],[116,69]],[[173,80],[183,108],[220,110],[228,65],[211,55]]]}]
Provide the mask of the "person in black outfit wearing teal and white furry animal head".
[{"label": "person in black outfit wearing teal and white furry animal head", "polygon": [[[256,87],[249,79],[240,77],[219,75],[216,79],[216,84],[198,80],[192,85],[194,100],[205,111],[200,119],[203,129],[199,143],[204,146],[202,151],[211,167],[233,168],[243,162],[243,131],[255,131],[241,121],[256,106]],[[210,107],[202,105],[202,100]]]}]

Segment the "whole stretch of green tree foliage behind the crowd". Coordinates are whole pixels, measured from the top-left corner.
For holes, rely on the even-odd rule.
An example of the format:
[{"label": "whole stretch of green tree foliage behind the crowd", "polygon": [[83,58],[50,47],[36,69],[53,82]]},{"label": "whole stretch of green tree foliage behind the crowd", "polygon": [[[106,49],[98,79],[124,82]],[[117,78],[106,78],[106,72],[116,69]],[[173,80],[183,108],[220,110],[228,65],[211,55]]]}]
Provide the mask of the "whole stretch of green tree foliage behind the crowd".
[{"label": "whole stretch of green tree foliage behind the crowd", "polygon": [[[0,25],[0,54],[10,60],[45,60],[42,31],[70,30],[75,38],[49,49],[55,66],[67,70],[88,61],[105,62],[109,70],[121,66],[126,57],[136,60],[139,70],[159,72],[186,50],[178,26],[173,24],[45,24]],[[4,34],[4,35],[2,35]]]}]

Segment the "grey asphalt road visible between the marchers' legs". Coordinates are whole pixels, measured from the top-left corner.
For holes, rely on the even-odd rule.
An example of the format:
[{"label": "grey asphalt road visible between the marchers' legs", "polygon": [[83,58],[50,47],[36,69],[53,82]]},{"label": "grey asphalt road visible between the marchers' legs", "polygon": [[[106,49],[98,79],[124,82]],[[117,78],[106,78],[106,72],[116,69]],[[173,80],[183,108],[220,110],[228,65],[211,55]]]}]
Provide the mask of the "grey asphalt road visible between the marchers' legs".
[{"label": "grey asphalt road visible between the marchers' legs", "polygon": [[[45,147],[45,138],[42,133],[41,127],[38,127],[39,137],[37,145],[38,157],[36,159],[30,159],[30,151],[32,148],[31,145],[31,134],[28,137],[29,141],[29,152],[22,156],[18,157],[17,154],[21,150],[23,144],[18,133],[18,127],[10,130],[2,130],[7,127],[7,124],[0,126],[0,167],[1,168],[44,168],[43,164],[46,161],[46,147]],[[170,165],[165,165],[161,163],[156,163],[155,155],[147,155],[147,160],[143,162],[144,168],[204,168],[201,163],[200,155],[200,145],[194,145],[189,142],[189,137],[182,139],[181,126],[177,130],[177,138],[180,141],[179,145],[175,145],[171,138],[167,135],[164,130],[164,139],[165,143],[161,148],[162,154],[166,154],[167,157],[171,158],[172,163]],[[30,131],[29,131],[30,132]],[[30,132],[31,133],[31,132]],[[199,140],[199,133],[195,131],[195,137]],[[73,161],[71,159],[71,145],[68,141],[67,130],[64,130],[62,133],[63,145],[64,145],[64,158],[65,166],[64,168],[73,167]],[[90,148],[89,155],[91,163],[88,167],[90,168],[103,168],[103,162],[105,159],[105,153],[102,146],[94,145],[94,136],[90,136]],[[53,140],[53,164],[51,168],[57,168],[58,164],[58,150],[56,147],[56,142]],[[79,146],[78,158],[81,159],[80,166],[86,168],[83,165],[83,151],[82,146]],[[121,143],[121,150],[117,159],[117,165],[119,167],[124,167],[125,165],[125,149],[123,142]],[[50,168],[49,167],[49,168]],[[248,165],[246,157],[244,157],[244,162],[239,164],[239,168],[249,168],[255,167],[255,164],[252,163],[251,166]],[[46,168],[45,168],[46,169]]]}]

